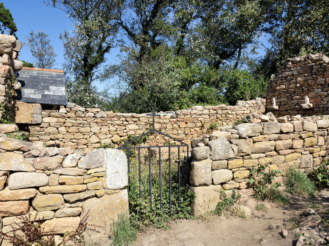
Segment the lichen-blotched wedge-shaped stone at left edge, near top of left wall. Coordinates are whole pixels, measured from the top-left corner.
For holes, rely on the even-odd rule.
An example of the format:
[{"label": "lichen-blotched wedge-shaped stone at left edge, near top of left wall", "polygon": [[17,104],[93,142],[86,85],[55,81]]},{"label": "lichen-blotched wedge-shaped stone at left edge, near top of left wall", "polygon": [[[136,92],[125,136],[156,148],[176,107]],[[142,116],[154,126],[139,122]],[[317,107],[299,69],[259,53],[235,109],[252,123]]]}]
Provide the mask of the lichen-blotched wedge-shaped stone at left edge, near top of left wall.
[{"label": "lichen-blotched wedge-shaped stone at left edge, near top of left wall", "polygon": [[0,155],[0,170],[33,172],[36,169],[23,158],[23,155],[6,152]]}]

